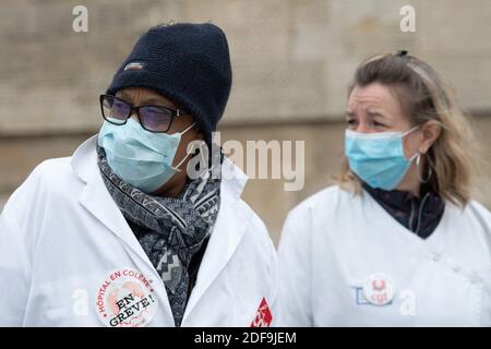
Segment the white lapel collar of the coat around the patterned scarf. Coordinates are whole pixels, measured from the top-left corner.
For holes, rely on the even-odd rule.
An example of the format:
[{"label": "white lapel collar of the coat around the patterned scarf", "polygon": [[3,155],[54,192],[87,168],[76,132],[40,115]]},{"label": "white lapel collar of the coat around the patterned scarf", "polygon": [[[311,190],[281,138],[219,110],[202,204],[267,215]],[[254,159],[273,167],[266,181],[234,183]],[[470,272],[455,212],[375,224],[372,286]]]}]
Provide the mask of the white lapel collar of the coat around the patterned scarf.
[{"label": "white lapel collar of the coat around the patterned scarf", "polygon": [[[80,203],[133,250],[134,253],[130,253],[132,258],[137,255],[155,270],[104,184],[97,165],[96,142],[97,135],[92,136],[72,156],[74,172],[86,183]],[[221,164],[221,173],[220,209],[200,266],[196,285],[185,309],[182,321],[184,326],[193,308],[232,256],[252,216],[252,212],[240,203],[247,176],[227,158],[224,158]],[[170,312],[168,303],[166,310]]]}]

